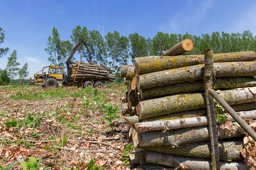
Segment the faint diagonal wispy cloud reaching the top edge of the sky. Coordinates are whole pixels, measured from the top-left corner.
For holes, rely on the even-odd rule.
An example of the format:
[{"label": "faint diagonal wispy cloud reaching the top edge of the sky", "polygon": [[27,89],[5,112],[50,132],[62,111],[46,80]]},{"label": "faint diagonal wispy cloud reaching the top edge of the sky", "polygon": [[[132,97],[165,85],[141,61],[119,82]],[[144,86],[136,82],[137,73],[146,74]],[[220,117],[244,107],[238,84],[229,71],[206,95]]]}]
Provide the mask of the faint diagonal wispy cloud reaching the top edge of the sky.
[{"label": "faint diagonal wispy cloud reaching the top edge of the sky", "polygon": [[200,1],[195,3],[189,0],[184,6],[177,10],[170,19],[160,26],[160,31],[168,33],[183,33],[188,28],[196,28],[204,19],[207,10],[211,7],[212,0]]}]

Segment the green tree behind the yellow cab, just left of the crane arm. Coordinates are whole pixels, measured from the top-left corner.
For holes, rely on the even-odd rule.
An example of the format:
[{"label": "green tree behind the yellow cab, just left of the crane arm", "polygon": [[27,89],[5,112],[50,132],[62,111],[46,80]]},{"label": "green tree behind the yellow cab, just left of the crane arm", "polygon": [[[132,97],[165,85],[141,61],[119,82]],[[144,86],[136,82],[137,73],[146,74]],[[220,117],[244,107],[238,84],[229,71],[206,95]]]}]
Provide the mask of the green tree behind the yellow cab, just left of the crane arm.
[{"label": "green tree behind the yellow cab, just left of the crane arm", "polygon": [[67,57],[69,57],[72,50],[73,50],[73,44],[69,40],[61,41],[60,51],[59,51],[59,55],[58,55],[58,62],[59,62],[58,66],[63,67],[64,70],[65,70],[65,68],[67,68],[66,60],[67,60]]}]

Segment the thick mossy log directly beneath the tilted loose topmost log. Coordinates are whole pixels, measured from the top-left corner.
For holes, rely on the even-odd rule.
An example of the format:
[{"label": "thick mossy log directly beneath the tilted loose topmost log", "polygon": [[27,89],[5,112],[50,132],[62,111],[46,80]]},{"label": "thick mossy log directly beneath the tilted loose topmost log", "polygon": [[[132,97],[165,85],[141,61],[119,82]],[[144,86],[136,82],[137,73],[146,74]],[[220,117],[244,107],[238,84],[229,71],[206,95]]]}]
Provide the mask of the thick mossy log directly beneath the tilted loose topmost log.
[{"label": "thick mossy log directly beneath the tilted loose topmost log", "polygon": [[[255,61],[254,51],[213,54],[214,62]],[[204,63],[204,55],[148,56],[134,59],[138,75]]]}]

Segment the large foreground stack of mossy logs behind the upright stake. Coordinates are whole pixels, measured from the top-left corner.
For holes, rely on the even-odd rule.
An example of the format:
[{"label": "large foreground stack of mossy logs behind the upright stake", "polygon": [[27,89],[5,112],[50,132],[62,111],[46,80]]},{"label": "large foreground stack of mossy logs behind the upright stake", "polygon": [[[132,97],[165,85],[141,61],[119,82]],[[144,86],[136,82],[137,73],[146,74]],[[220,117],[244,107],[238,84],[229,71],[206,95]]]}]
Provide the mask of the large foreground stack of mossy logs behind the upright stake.
[{"label": "large foreground stack of mossy logs behind the upright stake", "polygon": [[[188,51],[181,50],[182,44],[175,45],[179,50],[171,48],[168,53],[164,52],[169,56],[134,59],[128,100],[131,96],[137,99],[130,104],[136,107],[137,115],[125,117],[125,120],[134,128],[132,140],[137,151],[130,159],[140,164],[139,169],[166,166],[211,169],[204,55],[180,55]],[[177,54],[179,56],[175,56]],[[239,116],[256,119],[256,53],[246,51],[214,54],[213,57],[214,90]],[[216,111],[223,110],[216,108]],[[240,151],[244,148],[245,132],[228,113],[224,115],[226,123],[217,120],[220,169],[250,169]]]}]

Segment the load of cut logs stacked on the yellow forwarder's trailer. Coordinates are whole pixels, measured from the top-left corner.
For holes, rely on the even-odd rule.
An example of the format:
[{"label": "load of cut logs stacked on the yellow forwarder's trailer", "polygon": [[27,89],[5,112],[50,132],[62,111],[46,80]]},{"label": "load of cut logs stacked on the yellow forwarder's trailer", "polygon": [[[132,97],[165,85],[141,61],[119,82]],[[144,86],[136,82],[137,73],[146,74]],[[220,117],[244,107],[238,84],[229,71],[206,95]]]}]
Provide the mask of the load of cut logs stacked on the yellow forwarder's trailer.
[{"label": "load of cut logs stacked on the yellow forwarder's trailer", "polygon": [[116,82],[117,78],[113,74],[115,70],[103,65],[90,64],[86,62],[74,62],[72,68],[75,69],[77,81],[97,79],[99,81]]}]

